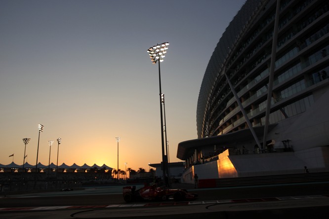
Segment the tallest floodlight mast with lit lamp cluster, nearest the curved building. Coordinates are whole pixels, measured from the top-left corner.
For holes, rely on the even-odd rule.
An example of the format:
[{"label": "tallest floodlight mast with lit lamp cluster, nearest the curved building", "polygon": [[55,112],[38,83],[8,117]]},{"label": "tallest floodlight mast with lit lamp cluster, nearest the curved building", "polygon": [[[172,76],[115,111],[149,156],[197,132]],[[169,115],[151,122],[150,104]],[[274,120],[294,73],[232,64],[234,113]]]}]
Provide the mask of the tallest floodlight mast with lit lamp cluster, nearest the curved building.
[{"label": "tallest floodlight mast with lit lamp cluster, nearest the curved building", "polygon": [[163,106],[162,106],[162,91],[161,91],[161,68],[160,68],[160,63],[164,61],[164,54],[167,52],[166,50],[168,49],[167,45],[169,45],[168,42],[164,42],[161,44],[154,45],[150,47],[147,52],[150,55],[151,61],[153,64],[156,64],[159,61],[159,89],[160,89],[160,119],[161,119],[161,145],[162,145],[162,168],[163,168],[163,178],[164,181],[167,185],[166,182],[166,170],[167,170],[167,161],[166,157],[164,154],[164,119],[163,119]]}]

